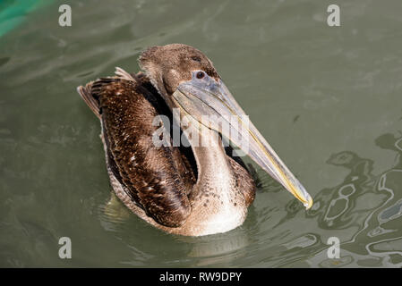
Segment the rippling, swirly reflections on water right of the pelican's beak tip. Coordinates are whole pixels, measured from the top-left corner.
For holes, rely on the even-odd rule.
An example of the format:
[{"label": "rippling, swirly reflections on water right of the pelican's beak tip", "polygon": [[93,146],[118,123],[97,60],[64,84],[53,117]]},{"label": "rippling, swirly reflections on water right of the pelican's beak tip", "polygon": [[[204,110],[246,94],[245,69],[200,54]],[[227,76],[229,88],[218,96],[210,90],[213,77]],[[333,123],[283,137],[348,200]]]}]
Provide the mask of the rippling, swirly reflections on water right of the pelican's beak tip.
[{"label": "rippling, swirly reflections on water right of the pelican's beak tip", "polygon": [[[349,174],[337,187],[322,189],[307,216],[316,217],[323,229],[354,230],[351,238],[341,240],[342,254],[348,257],[342,265],[402,266],[401,142],[400,134],[384,134],[375,140],[378,147],[396,153],[395,165],[380,175],[372,174],[372,160],[353,152],[329,158],[329,164],[345,167]],[[313,266],[324,266],[329,261]]]}]

